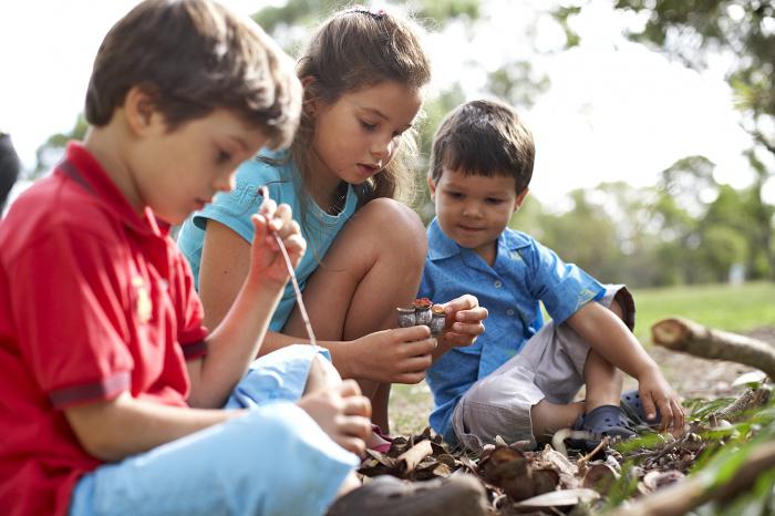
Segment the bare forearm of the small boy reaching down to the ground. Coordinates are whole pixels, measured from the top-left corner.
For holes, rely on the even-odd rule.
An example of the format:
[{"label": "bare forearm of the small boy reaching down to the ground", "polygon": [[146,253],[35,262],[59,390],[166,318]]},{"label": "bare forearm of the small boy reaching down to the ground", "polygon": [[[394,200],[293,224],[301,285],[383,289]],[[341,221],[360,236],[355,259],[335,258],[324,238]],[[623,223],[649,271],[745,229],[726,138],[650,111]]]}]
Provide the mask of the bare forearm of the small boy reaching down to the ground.
[{"label": "bare forearm of the small boy reaching down to the ground", "polygon": [[587,303],[567,322],[595,351],[629,375],[640,379],[658,369],[621,319],[601,305]]}]

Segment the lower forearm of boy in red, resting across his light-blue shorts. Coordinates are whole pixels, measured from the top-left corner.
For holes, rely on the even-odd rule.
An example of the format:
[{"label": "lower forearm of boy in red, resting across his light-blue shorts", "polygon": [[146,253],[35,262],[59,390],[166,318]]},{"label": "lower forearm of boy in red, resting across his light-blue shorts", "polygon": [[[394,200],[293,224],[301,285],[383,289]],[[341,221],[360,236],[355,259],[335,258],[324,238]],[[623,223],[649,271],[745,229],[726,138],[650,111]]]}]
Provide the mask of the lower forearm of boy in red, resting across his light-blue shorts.
[{"label": "lower forearm of boy in red, resting across his light-blue shorts", "polygon": [[161,405],[136,400],[127,392],[64,412],[84,450],[106,462],[147,452],[245,413]]}]

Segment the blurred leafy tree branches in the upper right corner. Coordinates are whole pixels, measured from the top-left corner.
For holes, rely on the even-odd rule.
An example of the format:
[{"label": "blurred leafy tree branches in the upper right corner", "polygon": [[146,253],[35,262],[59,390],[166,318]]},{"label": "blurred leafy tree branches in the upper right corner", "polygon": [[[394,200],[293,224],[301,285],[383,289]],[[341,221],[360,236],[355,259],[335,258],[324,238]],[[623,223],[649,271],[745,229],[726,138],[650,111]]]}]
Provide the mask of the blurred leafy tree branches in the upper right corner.
[{"label": "blurred leafy tree branches in the upper right corner", "polygon": [[[689,66],[701,70],[707,66],[710,56],[731,58],[726,79],[743,113],[742,126],[760,148],[775,158],[775,3],[617,0],[616,8],[645,17],[642,30],[630,34],[632,39],[657,45]],[[750,199],[751,223],[756,225],[761,246],[754,271],[775,279],[773,208],[762,200],[762,187],[775,171],[768,169],[755,152],[748,157],[756,173]]]}]

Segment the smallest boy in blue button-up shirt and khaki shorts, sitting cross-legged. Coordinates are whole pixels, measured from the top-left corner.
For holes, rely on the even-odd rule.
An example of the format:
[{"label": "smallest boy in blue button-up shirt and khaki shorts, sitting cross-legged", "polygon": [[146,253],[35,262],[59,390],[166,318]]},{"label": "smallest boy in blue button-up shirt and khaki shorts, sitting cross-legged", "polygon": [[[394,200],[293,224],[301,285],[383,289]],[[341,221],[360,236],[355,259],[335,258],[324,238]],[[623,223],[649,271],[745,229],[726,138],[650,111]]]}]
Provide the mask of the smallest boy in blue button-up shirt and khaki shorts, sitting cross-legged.
[{"label": "smallest boy in blue button-up shirt and khaki shorts, sitting cross-legged", "polygon": [[[602,435],[630,437],[620,407],[624,371],[639,382],[629,394],[634,409],[680,431],[678,396],[630,331],[627,289],[602,286],[508,228],[527,197],[534,156],[529,131],[498,102],[466,103],[436,133],[428,174],[436,218],[418,296],[472,293],[489,316],[472,345],[440,342],[426,376],[431,425],[473,450],[496,435],[535,445],[564,427],[592,434],[577,443],[587,448]],[[551,322],[544,323],[539,301]],[[574,402],[581,385],[586,400]]]}]

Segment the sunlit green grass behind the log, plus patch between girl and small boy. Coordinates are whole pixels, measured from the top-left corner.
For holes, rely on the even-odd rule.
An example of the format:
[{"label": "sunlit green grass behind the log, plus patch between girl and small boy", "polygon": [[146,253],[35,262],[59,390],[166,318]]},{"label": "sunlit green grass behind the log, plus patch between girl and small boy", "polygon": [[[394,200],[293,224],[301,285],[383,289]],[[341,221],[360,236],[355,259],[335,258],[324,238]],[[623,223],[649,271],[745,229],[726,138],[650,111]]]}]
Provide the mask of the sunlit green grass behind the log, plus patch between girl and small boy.
[{"label": "sunlit green grass behind the log, plus patch between girl and small boy", "polygon": [[[751,282],[684,286],[634,290],[638,308],[636,334],[651,344],[651,326],[660,319],[681,316],[702,324],[733,332],[775,327],[775,283]],[[427,425],[431,393],[425,383],[393,385],[390,414],[391,433],[416,434]]]}]

